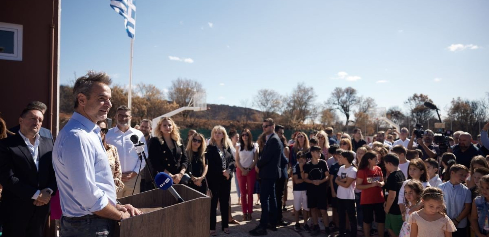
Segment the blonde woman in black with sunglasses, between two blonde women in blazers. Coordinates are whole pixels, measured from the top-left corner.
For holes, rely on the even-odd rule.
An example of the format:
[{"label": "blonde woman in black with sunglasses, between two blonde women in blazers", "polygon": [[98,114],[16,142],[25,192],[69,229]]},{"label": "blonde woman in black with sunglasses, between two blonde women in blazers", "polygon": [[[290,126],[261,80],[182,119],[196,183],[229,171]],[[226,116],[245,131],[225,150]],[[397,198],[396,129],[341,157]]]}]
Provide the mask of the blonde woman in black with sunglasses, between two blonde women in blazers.
[{"label": "blonde woman in black with sunglasses, between two blonde women in blazers", "polygon": [[207,182],[205,175],[207,174],[207,158],[205,157],[206,146],[205,138],[200,133],[194,133],[188,137],[187,157],[189,157],[189,171],[191,173],[191,181],[187,186],[199,191],[202,194],[207,193]]}]

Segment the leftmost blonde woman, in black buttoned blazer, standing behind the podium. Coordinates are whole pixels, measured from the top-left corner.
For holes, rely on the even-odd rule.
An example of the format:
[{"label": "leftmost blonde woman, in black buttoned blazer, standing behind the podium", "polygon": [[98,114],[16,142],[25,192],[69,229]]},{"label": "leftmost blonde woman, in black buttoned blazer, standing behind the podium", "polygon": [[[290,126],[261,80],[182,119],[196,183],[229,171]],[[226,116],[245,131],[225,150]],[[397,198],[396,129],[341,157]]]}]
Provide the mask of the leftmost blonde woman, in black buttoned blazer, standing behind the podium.
[{"label": "leftmost blonde woman, in black buttoned blazer, standing behind the podium", "polygon": [[158,122],[155,137],[149,142],[148,160],[153,171],[170,174],[174,183],[179,183],[189,161],[187,152],[180,139],[180,131],[170,117],[163,117]]}]

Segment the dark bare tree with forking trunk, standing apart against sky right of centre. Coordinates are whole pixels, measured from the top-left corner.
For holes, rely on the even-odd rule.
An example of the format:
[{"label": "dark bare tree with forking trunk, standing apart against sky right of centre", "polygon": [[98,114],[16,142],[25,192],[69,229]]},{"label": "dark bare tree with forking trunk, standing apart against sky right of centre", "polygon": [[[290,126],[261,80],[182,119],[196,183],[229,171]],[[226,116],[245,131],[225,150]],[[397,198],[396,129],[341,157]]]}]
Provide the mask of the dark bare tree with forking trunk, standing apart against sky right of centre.
[{"label": "dark bare tree with forking trunk, standing apart against sky right of centre", "polygon": [[356,95],[356,89],[349,86],[346,88],[336,87],[328,100],[330,105],[333,105],[336,109],[341,111],[346,117],[345,126],[348,126],[350,121],[350,113],[353,108],[358,104],[358,96]]}]

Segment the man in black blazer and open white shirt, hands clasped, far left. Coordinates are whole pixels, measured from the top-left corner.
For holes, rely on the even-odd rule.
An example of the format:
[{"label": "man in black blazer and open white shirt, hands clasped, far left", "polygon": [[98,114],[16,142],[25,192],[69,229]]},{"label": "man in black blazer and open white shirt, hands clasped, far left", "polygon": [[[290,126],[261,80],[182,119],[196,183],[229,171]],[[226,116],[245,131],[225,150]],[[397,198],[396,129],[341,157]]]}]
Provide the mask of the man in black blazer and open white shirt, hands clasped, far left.
[{"label": "man in black blazer and open white shirt, hands clasped, far left", "polygon": [[20,132],[0,140],[0,218],[2,237],[42,237],[51,194],[56,192],[53,143],[39,135],[44,115],[25,108]]}]

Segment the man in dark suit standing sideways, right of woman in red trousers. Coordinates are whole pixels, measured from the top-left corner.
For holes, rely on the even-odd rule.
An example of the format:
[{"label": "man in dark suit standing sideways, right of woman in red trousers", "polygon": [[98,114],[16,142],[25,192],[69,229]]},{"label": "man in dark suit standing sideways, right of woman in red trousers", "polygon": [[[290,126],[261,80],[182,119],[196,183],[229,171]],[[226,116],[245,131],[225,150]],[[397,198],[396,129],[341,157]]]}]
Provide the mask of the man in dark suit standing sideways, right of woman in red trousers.
[{"label": "man in dark suit standing sideways, right of woman in red trousers", "polygon": [[[278,135],[273,132],[275,123],[267,118],[263,121],[263,132],[267,136],[265,147],[256,166],[260,175],[260,202],[262,203],[262,217],[260,224],[249,232],[252,236],[267,235],[267,227],[276,231],[277,223],[277,199],[275,197],[275,182],[282,174],[280,172],[280,159],[284,153],[284,147]],[[268,223],[272,223],[268,225]]]}]

